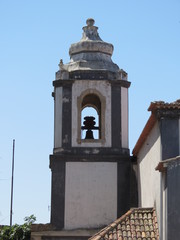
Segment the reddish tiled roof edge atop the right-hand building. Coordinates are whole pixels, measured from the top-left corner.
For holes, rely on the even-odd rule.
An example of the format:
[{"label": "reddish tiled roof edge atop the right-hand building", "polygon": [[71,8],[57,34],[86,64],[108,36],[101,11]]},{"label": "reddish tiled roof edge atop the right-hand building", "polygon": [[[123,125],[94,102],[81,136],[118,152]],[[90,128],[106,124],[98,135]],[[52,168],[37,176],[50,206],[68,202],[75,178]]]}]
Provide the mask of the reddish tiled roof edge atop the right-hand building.
[{"label": "reddish tiled roof edge atop the right-hand building", "polygon": [[151,102],[148,111],[154,111],[156,109],[180,109],[180,99],[172,103],[166,103],[164,101]]}]

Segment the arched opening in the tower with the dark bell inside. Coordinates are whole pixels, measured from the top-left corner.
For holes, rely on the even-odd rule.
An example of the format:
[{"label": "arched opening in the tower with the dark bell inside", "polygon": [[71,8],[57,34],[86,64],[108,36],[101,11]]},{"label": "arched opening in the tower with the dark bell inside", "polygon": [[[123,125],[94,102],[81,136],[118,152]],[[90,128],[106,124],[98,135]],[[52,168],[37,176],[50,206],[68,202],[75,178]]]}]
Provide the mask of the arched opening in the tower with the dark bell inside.
[{"label": "arched opening in the tower with the dark bell inside", "polygon": [[82,100],[81,139],[101,139],[101,101],[95,94]]}]

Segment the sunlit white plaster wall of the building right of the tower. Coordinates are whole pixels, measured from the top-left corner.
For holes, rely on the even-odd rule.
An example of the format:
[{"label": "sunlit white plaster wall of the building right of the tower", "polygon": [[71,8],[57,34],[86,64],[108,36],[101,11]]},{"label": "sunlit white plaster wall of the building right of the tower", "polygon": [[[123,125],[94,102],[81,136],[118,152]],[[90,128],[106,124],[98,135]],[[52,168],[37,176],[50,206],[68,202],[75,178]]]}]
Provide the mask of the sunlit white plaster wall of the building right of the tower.
[{"label": "sunlit white plaster wall of the building right of the tower", "polygon": [[161,161],[158,123],[151,130],[138,154],[138,193],[140,207],[156,207],[160,216],[160,173],[155,168]]}]

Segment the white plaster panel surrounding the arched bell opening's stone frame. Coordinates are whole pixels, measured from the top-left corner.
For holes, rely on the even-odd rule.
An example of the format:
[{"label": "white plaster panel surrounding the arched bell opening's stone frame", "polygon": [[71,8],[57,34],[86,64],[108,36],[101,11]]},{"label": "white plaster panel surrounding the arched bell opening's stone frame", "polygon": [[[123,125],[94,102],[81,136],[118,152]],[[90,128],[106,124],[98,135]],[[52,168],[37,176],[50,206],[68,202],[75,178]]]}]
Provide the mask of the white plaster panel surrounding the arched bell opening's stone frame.
[{"label": "white plaster panel surrounding the arched bell opening's stone frame", "polygon": [[[106,98],[105,141],[78,143],[77,98],[86,90],[95,89]],[[75,81],[72,87],[72,146],[73,147],[111,147],[111,86],[107,81]]]}]

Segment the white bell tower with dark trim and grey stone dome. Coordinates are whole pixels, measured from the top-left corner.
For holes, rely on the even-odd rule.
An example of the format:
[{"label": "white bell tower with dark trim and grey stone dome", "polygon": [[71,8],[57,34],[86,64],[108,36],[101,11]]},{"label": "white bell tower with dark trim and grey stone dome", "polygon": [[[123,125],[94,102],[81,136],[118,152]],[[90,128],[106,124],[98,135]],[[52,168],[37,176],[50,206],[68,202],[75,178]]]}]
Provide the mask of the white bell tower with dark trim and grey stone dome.
[{"label": "white bell tower with dark trim and grey stone dome", "polygon": [[54,86],[51,223],[99,228],[130,207],[127,73],[88,19]]}]

